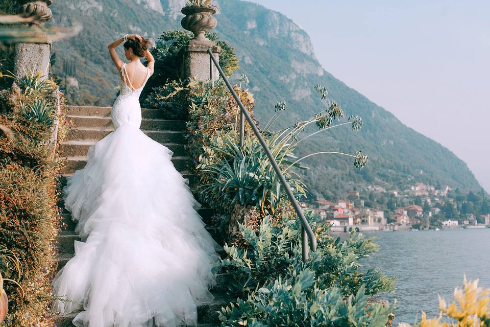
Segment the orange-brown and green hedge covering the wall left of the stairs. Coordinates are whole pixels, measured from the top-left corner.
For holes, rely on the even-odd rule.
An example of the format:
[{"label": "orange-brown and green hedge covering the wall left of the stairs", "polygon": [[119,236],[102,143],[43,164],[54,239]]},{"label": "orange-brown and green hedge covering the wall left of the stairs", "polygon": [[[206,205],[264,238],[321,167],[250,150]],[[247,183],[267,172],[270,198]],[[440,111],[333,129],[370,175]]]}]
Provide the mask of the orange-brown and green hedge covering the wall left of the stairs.
[{"label": "orange-brown and green hedge covering the wall left of the stairs", "polygon": [[[7,137],[0,138],[0,239],[2,248],[18,259],[0,258],[10,299],[4,325],[52,326],[48,306],[57,267],[55,237],[60,224],[55,180],[60,163],[51,156],[50,149],[54,115],[50,113],[45,120],[30,119],[33,115],[22,105],[43,102],[53,106],[54,85],[40,82],[36,76],[16,83],[9,96],[14,99],[13,108],[8,115],[0,116],[0,125],[7,132]],[[59,144],[66,133],[66,122],[63,115],[58,119]]]}]

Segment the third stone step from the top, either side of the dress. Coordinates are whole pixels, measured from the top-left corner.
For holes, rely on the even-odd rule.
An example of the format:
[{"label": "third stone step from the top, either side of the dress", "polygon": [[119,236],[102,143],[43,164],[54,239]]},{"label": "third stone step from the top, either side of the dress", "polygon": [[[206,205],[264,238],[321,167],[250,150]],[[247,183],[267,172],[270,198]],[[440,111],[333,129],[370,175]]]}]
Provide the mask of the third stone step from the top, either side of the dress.
[{"label": "third stone step from the top, either side of the dress", "polygon": [[[106,137],[109,133],[113,132],[114,128],[100,128],[100,127],[76,127],[68,131],[66,135],[66,141],[74,140],[93,140],[99,141]],[[171,131],[171,130],[143,130],[143,132],[160,143],[177,143],[184,144],[184,131]]]}]

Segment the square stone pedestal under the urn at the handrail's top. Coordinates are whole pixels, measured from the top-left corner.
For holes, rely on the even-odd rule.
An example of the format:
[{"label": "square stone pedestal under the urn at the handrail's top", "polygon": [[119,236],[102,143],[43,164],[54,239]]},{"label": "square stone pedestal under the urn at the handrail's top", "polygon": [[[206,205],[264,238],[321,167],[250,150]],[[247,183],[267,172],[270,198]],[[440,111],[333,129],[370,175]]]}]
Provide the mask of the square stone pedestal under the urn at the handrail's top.
[{"label": "square stone pedestal under the urn at the handrail's top", "polygon": [[211,79],[211,66],[213,67],[214,79],[217,80],[219,78],[218,69],[210,61],[207,53],[208,49],[213,52],[214,57],[219,62],[221,48],[215,42],[191,40],[189,45],[182,48],[180,51],[182,79],[199,77],[203,81],[209,81]]}]

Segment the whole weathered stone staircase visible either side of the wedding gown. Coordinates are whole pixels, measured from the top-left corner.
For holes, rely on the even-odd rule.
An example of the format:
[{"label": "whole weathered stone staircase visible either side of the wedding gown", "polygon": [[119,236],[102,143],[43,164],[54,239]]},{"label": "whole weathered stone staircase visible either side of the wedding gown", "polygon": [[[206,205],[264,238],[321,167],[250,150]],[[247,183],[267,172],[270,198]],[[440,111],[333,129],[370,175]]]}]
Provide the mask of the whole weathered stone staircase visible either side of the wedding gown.
[{"label": "whole weathered stone staircase visible either side of the wedding gown", "polygon": [[[114,130],[111,122],[110,107],[68,106],[67,110],[68,118],[72,120],[73,126],[58,150],[61,157],[66,157],[65,169],[61,174],[62,185],[65,184],[66,176],[85,166],[86,155],[90,145]],[[195,176],[186,168],[189,157],[184,149],[185,122],[162,120],[159,118],[159,110],[156,109],[142,109],[142,117],[141,130],[174,152],[172,158],[174,166],[185,178],[189,179],[190,185],[193,185]],[[63,208],[61,199],[58,205]],[[199,209],[199,214],[203,217],[204,222],[209,223],[212,215],[212,211],[209,208]],[[62,220],[67,224],[67,227],[57,237],[59,251],[58,270],[74,255],[74,242],[76,240],[80,241],[80,238],[75,233],[76,224],[71,220],[70,213],[64,208]],[[212,233],[211,229],[207,229]],[[224,253],[221,254],[223,255]],[[217,285],[211,290],[215,295],[214,302],[198,308],[200,326],[219,325],[216,311],[219,311],[223,305],[229,302],[224,295],[223,279],[223,275],[217,275]],[[71,320],[76,314],[78,312],[56,317],[56,325],[58,327],[71,327]]]}]

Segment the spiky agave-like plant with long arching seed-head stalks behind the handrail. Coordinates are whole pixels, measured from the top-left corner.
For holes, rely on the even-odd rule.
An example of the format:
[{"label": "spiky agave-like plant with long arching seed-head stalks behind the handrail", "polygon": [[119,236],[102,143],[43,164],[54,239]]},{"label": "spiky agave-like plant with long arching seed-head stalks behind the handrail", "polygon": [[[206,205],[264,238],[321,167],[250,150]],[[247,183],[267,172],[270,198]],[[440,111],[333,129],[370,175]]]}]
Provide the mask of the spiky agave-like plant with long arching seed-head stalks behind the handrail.
[{"label": "spiky agave-like plant with long arching seed-head stalks behind the handrail", "polygon": [[[247,83],[248,80],[242,76],[241,82]],[[315,90],[320,94],[320,99],[328,103],[325,111],[317,113],[310,120],[297,122],[287,128],[272,132],[271,126],[287,107],[285,102],[281,102],[276,104],[275,114],[262,130],[269,150],[271,150],[282,174],[297,197],[306,196],[306,186],[297,170],[291,168],[308,169],[301,165],[302,160],[318,154],[340,154],[354,158],[354,166],[359,169],[362,169],[369,161],[366,155],[361,154],[361,151],[355,155],[336,151],[321,151],[301,158],[294,154],[301,142],[317,133],[342,125],[351,125],[353,130],[358,130],[362,126],[362,119],[358,116],[351,116],[345,123],[332,125],[334,121],[340,120],[344,116],[344,112],[337,103],[328,101],[327,88],[317,85]],[[261,208],[263,214],[265,214],[265,209],[274,213],[281,198],[286,196],[279,176],[269,164],[268,157],[255,135],[251,133],[245,135],[243,147],[239,146],[236,133],[237,118],[238,115],[235,118],[234,128],[228,133],[215,137],[212,145],[204,148],[205,155],[201,155],[199,158],[197,169],[202,169],[203,172],[213,176],[212,182],[201,185],[204,188],[203,194],[205,197],[206,194],[209,194],[207,195],[209,203],[219,199],[221,203],[216,203],[219,206],[225,204],[233,206],[235,203],[239,203],[242,206],[257,206]],[[318,131],[300,137],[306,127],[313,124],[318,128]]]}]

